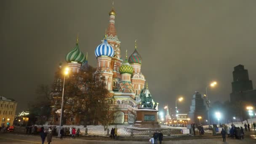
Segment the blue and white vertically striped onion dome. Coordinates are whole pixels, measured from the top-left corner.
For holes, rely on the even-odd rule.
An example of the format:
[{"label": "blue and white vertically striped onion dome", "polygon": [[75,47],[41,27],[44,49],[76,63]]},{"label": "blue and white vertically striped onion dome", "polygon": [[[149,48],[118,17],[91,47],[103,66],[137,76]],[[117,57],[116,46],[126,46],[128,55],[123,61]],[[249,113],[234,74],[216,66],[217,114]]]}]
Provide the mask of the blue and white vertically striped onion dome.
[{"label": "blue and white vertically striped onion dome", "polygon": [[99,46],[95,49],[95,56],[110,56],[113,57],[115,54],[114,48],[112,48],[109,43],[107,43],[107,40],[104,39],[103,43],[101,43]]}]

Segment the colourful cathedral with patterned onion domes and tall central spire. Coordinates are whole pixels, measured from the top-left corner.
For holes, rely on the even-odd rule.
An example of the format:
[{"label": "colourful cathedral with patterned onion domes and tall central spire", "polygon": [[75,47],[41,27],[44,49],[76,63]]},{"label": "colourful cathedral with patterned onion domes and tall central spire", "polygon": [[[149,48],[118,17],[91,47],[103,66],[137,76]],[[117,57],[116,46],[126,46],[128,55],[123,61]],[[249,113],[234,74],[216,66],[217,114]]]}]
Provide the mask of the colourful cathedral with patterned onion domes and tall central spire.
[{"label": "colourful cathedral with patterned onion domes and tall central spire", "polygon": [[[98,62],[97,71],[105,77],[109,96],[114,99],[112,101],[115,107],[114,123],[131,124],[136,120],[136,109],[140,103],[139,95],[141,89],[145,87],[146,79],[141,73],[141,55],[137,51],[136,41],[133,53],[128,57],[126,50],[125,60],[122,59],[121,42],[115,29],[115,17],[116,12],[112,7],[109,12],[109,25],[104,40],[101,40],[102,43],[95,48],[95,56]],[[87,54],[85,56],[80,51],[78,38],[75,48],[67,53],[66,61],[72,72],[79,72],[80,69],[85,69],[88,66]],[[52,95],[58,96],[62,93],[61,79],[55,78],[54,83],[59,86],[54,88]],[[150,94],[147,86],[145,90],[144,93]],[[155,104],[155,101],[153,103]],[[51,124],[59,123],[58,117],[52,117],[51,119]],[[67,120],[67,124],[72,124],[74,119]]]}]

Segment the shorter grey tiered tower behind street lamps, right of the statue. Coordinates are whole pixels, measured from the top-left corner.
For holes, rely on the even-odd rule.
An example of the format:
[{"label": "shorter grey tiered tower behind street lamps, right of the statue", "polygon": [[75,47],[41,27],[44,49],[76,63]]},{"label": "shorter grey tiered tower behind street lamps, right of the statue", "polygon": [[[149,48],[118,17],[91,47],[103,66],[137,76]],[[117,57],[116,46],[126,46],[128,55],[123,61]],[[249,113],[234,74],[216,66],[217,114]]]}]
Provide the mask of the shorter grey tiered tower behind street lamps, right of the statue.
[{"label": "shorter grey tiered tower behind street lamps, right of the statue", "polygon": [[195,92],[192,97],[190,111],[188,112],[187,118],[190,118],[189,123],[197,123],[199,124],[199,119],[197,119],[198,116],[201,116],[201,122],[202,120],[207,120],[207,108],[206,103],[203,98],[203,94],[200,94],[199,92]]}]

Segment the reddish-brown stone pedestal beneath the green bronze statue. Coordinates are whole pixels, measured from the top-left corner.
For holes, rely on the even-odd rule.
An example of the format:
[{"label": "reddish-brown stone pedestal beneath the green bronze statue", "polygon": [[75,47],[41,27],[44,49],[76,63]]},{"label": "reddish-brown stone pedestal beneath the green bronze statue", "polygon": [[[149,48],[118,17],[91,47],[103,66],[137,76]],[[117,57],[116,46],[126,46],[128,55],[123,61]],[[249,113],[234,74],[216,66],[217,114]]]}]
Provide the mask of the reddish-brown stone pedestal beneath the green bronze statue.
[{"label": "reddish-brown stone pedestal beneath the green bronze statue", "polygon": [[137,121],[134,123],[134,127],[138,128],[160,128],[157,121],[156,109],[139,108],[136,110]]}]

